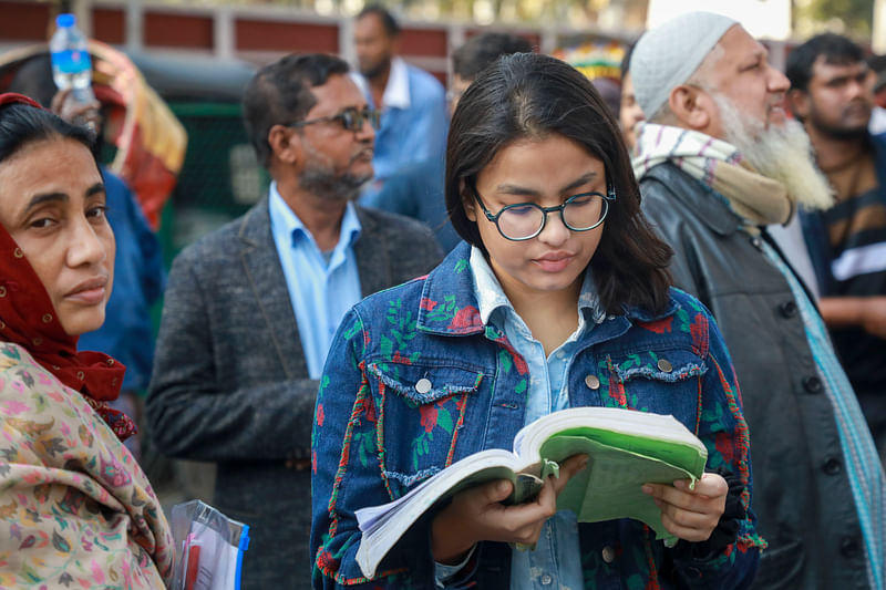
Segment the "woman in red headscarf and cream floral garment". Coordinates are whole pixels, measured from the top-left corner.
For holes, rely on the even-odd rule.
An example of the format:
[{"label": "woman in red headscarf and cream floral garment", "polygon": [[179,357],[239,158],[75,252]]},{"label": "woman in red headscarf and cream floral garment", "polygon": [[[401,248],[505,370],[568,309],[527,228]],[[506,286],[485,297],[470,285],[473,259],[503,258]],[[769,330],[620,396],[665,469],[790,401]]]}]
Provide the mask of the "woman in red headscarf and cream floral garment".
[{"label": "woman in red headscarf and cream floral garment", "polygon": [[0,587],[164,588],[172,536],[107,402],[125,368],[78,352],[111,293],[91,136],[0,95]]}]

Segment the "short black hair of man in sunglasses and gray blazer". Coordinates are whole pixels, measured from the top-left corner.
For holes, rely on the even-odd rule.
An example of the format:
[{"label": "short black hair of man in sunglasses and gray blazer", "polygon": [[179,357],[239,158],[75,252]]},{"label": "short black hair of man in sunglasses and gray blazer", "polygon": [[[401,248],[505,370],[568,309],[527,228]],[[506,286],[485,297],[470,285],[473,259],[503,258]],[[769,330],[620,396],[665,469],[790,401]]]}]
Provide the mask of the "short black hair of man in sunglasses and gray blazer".
[{"label": "short black hair of man in sunglasses and gray blazer", "polygon": [[334,55],[308,53],[287,55],[256,72],[244,91],[243,118],[265,167],[270,165],[270,128],[302,121],[317,104],[311,89],[348,70],[348,63]]}]

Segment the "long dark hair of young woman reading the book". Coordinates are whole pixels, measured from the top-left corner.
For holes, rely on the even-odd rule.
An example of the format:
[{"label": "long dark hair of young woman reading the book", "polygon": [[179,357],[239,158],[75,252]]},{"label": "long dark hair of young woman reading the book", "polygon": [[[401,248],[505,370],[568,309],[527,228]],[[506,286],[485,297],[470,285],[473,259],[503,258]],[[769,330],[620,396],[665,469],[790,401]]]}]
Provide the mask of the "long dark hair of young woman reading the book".
[{"label": "long dark hair of young woman reading the book", "polygon": [[604,308],[609,313],[622,313],[624,306],[661,311],[668,302],[667,267],[673,251],[640,213],[640,190],[618,124],[588,79],[560,60],[506,55],[459,101],[446,147],[446,208],[453,227],[485,252],[476,224],[465,215],[465,187],[476,183],[502,148],[554,134],[600,159],[617,195],[589,263]]}]

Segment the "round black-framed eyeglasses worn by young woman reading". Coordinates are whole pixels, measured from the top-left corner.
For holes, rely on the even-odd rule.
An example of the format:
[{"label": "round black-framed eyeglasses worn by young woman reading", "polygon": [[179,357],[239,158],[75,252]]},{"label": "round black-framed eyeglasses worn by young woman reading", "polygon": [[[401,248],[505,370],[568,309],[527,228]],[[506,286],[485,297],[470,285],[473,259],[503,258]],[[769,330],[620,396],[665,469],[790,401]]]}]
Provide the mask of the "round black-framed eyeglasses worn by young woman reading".
[{"label": "round black-framed eyeglasses worn by young woman reading", "polygon": [[563,225],[573,231],[588,231],[598,227],[609,213],[609,201],[616,199],[615,189],[607,188],[607,194],[591,192],[573,195],[563,205],[542,207],[535,203],[517,203],[507,205],[493,215],[480,198],[476,187],[471,186],[474,197],[483,207],[486,219],[495,224],[498,234],[512,241],[530,240],[538,236],[547,224],[547,214],[559,211]]}]

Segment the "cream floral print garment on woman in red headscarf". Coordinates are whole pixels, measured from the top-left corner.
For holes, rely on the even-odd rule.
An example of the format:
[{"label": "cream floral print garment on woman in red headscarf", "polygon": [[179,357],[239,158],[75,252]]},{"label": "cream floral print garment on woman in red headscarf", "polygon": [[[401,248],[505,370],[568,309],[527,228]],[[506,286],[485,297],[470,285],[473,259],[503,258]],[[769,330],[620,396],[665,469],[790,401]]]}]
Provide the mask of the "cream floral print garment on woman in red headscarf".
[{"label": "cream floral print garment on woman in red headscarf", "polygon": [[165,588],[168,525],[128,451],[75,391],[0,342],[0,589]]}]

